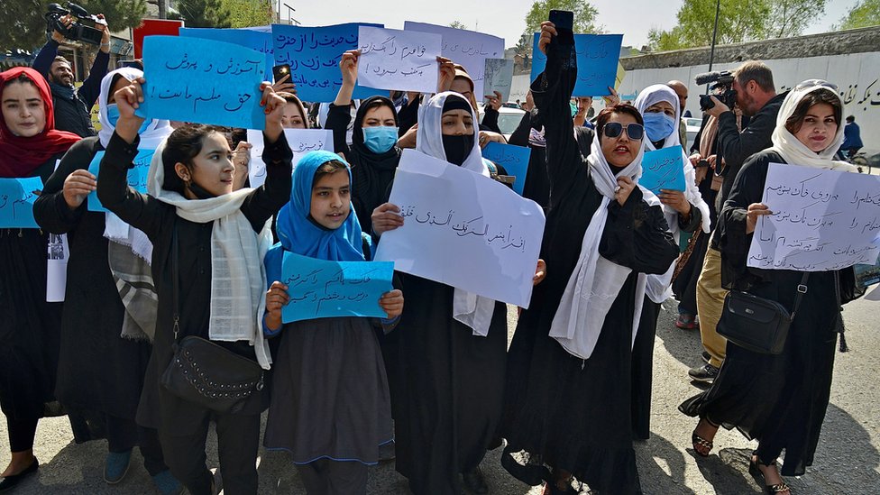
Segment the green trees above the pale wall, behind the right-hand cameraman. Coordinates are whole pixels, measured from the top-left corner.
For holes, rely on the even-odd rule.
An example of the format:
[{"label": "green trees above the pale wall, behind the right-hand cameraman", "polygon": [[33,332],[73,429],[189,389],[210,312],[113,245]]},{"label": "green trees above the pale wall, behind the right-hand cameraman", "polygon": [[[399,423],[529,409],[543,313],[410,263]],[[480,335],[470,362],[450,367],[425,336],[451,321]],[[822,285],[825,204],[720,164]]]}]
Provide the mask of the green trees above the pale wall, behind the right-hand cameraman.
[{"label": "green trees above the pale wall, behind the right-hand cameraman", "polygon": [[[720,0],[718,44],[797,36],[824,12],[826,0]],[[716,0],[684,0],[669,31],[651,30],[653,50],[709,46]]]}]

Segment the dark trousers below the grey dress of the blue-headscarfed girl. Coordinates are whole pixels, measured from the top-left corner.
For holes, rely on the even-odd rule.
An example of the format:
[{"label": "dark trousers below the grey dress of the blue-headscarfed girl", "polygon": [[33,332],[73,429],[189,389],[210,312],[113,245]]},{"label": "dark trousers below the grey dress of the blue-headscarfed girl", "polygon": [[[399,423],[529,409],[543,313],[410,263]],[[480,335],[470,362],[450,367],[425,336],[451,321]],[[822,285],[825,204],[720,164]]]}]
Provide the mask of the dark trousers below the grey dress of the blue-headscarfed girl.
[{"label": "dark trousers below the grey dress of the blue-headscarfed girl", "polygon": [[366,495],[367,465],[320,459],[297,464],[307,495]]}]

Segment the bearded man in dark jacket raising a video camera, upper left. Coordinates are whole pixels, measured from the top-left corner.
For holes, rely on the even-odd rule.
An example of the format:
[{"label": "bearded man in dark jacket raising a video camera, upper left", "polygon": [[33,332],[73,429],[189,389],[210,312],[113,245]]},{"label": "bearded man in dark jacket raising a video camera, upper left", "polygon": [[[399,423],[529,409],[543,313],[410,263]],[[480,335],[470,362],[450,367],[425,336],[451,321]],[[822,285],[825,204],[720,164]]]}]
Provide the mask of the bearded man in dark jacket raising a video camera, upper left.
[{"label": "bearded man in dark jacket raising a video camera, upper left", "polygon": [[[103,14],[98,14],[97,17],[104,19]],[[75,20],[72,16],[65,15],[61,22],[69,26]],[[110,64],[110,29],[101,23],[96,24],[96,29],[103,32],[100,50],[89,70],[88,78],[78,89],[73,84],[75,77],[70,62],[58,55],[58,47],[64,41],[64,35],[57,29],[33,60],[33,69],[49,81],[52,104],[55,105],[55,128],[82,137],[97,135],[89,112],[101,92],[101,79],[106,76]]]}]

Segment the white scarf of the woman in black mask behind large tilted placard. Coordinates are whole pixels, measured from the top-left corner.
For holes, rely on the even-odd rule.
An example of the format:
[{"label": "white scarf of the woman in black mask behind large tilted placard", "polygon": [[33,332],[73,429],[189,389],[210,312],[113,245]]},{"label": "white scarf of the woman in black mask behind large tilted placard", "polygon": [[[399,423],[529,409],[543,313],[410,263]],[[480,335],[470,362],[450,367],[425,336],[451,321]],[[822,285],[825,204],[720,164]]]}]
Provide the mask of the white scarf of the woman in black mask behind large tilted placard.
[{"label": "white scarf of the woman in black mask behind large tilted placard", "polygon": [[[446,160],[446,151],[443,148],[443,105],[448,96],[466,98],[452,91],[445,91],[433,96],[427,103],[418,107],[418,129],[416,132],[416,150],[433,156],[440,160]],[[471,109],[473,132],[477,133],[477,115]],[[462,164],[463,169],[473,173],[489,177],[489,168],[483,163],[480,144],[477,136],[473,136],[473,147],[468,157]],[[468,325],[473,330],[473,335],[484,337],[489,335],[489,325],[492,323],[492,315],[495,312],[495,301],[483,298],[463,289],[455,289],[453,295],[453,318],[456,321]]]}]

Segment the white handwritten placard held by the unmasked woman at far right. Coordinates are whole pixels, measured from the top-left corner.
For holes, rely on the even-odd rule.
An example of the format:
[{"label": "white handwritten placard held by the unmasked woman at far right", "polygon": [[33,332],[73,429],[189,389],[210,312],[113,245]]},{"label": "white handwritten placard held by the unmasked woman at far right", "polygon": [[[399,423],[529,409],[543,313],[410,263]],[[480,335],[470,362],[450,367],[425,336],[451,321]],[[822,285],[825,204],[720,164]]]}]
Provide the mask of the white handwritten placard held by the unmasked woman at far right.
[{"label": "white handwritten placard held by the unmasked woman at far right", "polygon": [[877,260],[880,177],[771,163],[747,265],[840,270]]}]

